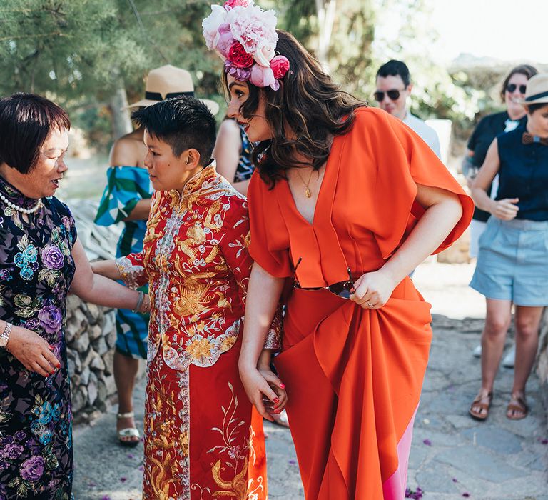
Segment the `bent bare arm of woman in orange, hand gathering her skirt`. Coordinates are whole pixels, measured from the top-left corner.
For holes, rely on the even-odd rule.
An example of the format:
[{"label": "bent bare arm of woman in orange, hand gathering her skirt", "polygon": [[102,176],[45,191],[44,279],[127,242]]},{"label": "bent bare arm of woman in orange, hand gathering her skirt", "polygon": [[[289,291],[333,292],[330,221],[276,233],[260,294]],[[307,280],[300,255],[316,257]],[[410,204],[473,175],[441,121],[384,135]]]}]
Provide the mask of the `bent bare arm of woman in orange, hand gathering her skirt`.
[{"label": "bent bare arm of woman in orange, hand gathering her skirt", "polygon": [[450,191],[417,184],[416,199],[425,213],[402,246],[381,269],[355,281],[355,293],[350,299],[360,306],[384,306],[397,284],[442,244],[462,216],[459,197]]}]

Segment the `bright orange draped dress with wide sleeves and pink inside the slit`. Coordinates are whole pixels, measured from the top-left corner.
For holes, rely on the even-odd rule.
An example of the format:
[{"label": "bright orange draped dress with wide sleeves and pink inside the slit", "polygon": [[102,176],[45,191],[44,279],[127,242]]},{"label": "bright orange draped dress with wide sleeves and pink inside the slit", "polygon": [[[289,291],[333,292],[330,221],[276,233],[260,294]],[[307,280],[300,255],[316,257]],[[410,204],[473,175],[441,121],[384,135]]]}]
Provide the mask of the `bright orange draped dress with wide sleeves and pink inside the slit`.
[{"label": "bright orange draped dress with wide sleeves and pink inside the slit", "polygon": [[[474,205],[422,139],[385,111],[360,108],[335,137],[313,224],[287,181],[250,183],[250,254],[304,288],[380,269],[417,224],[417,184],[459,196],[463,214],[436,252],[470,223]],[[430,304],[405,278],[381,309],[327,290],[294,289],[275,365],[307,500],[405,496],[412,426],[432,338]]]}]

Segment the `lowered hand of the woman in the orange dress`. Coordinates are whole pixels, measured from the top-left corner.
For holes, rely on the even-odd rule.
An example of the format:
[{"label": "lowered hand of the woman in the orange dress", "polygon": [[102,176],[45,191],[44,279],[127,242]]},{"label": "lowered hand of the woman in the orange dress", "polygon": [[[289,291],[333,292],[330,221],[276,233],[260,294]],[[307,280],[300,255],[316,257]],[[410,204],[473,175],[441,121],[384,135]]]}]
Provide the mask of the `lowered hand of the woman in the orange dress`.
[{"label": "lowered hand of the woman in the orange dress", "polygon": [[[278,379],[273,375],[275,379]],[[263,418],[273,421],[274,419],[266,409],[263,399],[267,399],[272,404],[268,405],[270,409],[282,411],[287,401],[285,390],[280,388],[280,384],[275,384],[274,379],[267,381],[265,376],[254,366],[240,366],[240,379],[248,395],[248,399],[255,406],[257,411]],[[272,386],[271,386],[272,385]],[[282,384],[283,385],[283,384]]]}]

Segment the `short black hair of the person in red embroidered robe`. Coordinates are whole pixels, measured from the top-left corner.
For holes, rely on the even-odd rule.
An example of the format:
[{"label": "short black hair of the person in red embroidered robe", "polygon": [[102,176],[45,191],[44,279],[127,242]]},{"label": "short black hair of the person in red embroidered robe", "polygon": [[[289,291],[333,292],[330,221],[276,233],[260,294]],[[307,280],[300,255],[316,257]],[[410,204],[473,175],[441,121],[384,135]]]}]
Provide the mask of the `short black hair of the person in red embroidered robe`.
[{"label": "short black hair of the person in red embroidered robe", "polygon": [[217,123],[208,106],[195,97],[164,99],[133,111],[131,119],[148,134],[169,144],[175,156],[193,148],[200,153],[201,165],[210,162]]}]

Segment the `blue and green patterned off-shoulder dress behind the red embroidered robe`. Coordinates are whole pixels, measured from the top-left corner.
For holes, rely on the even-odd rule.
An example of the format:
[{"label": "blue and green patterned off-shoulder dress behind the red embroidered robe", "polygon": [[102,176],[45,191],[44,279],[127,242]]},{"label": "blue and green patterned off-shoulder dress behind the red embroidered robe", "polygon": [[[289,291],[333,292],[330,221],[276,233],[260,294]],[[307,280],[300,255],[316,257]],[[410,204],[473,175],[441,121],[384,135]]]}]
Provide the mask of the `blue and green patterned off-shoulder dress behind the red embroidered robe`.
[{"label": "blue and green patterned off-shoulder dress behind the red embroidered robe", "polygon": [[[138,166],[111,166],[106,171],[107,185],[99,204],[95,223],[99,226],[117,224],[131,213],[138,201],[149,199],[153,188],[148,171]],[[124,221],[116,257],[125,257],[143,249],[146,221]],[[140,290],[148,294],[148,285]],[[129,309],[116,312],[116,349],[126,356],[146,359],[148,314]]]}]

